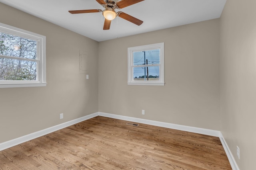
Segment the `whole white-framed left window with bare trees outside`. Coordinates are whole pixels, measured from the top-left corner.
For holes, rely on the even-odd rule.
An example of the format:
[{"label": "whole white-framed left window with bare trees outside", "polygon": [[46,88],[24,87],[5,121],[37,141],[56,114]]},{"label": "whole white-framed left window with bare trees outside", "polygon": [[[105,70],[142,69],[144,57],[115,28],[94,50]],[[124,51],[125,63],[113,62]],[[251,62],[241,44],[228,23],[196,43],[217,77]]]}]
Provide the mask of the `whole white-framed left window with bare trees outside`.
[{"label": "whole white-framed left window with bare trees outside", "polygon": [[0,88],[46,86],[46,37],[0,23]]}]

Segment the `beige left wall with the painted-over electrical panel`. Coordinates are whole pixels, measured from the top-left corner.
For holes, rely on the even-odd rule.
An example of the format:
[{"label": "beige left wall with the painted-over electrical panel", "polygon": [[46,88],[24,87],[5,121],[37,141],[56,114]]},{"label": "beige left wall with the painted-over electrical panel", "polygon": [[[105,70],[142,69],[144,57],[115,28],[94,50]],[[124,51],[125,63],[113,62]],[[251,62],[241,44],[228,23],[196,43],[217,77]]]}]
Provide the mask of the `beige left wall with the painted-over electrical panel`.
[{"label": "beige left wall with the painted-over electrical panel", "polygon": [[[98,111],[97,41],[1,3],[0,22],[46,36],[48,83],[0,88],[0,143]],[[89,80],[79,72],[80,50],[90,56]]]}]

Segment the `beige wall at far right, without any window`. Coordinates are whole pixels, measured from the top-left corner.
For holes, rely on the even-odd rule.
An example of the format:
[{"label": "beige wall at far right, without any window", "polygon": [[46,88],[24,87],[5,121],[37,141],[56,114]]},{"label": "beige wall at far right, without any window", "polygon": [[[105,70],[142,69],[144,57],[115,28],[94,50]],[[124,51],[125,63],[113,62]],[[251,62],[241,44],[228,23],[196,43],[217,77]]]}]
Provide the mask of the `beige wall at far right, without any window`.
[{"label": "beige wall at far right, without any window", "polygon": [[256,160],[255,7],[255,0],[227,0],[220,18],[221,131],[240,170],[254,170]]}]

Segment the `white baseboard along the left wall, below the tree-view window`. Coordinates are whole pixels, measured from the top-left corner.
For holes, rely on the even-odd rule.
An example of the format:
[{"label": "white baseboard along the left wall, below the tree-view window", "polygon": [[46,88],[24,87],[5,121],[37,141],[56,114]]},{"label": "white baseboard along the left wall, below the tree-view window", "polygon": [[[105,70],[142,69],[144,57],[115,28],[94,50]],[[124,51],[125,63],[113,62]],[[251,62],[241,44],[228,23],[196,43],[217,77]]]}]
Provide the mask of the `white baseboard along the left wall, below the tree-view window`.
[{"label": "white baseboard along the left wall, below the tree-view window", "polygon": [[47,134],[52,133],[54,131],[58,131],[60,129],[63,129],[63,128],[71,126],[71,125],[74,125],[74,124],[79,123],[81,121],[85,121],[87,119],[91,119],[92,117],[96,117],[96,116],[98,116],[98,112],[90,114],[90,115],[87,115],[87,116],[84,116],[84,117],[80,117],[78,119],[74,119],[72,121],[68,121],[68,122],[56,125],[56,126],[53,126],[53,127],[49,127],[47,129],[43,129],[41,131],[30,133],[28,135],[25,135],[25,136],[22,136],[22,137],[18,137],[16,139],[12,139],[10,141],[6,141],[6,142],[3,142],[3,143],[0,143],[0,151],[4,150],[4,149],[7,149],[7,148],[10,148],[10,147],[13,147],[15,145],[19,145],[21,143],[30,141],[32,139],[36,139],[38,137],[47,135]]}]

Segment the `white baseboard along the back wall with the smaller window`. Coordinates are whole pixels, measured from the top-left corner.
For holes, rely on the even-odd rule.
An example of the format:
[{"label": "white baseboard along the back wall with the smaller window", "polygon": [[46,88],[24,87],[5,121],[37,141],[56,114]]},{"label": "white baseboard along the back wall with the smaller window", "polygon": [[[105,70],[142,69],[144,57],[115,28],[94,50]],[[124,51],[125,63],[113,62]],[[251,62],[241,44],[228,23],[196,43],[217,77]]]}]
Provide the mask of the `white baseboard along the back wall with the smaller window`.
[{"label": "white baseboard along the back wall with the smaller window", "polygon": [[180,131],[199,133],[199,134],[209,135],[209,136],[214,136],[214,137],[220,137],[220,131],[215,131],[215,130],[210,130],[210,129],[177,125],[177,124],[172,124],[172,123],[164,123],[164,122],[160,122],[160,121],[153,121],[153,120],[140,119],[140,118],[135,118],[135,117],[127,117],[127,116],[121,116],[121,115],[114,115],[114,114],[103,113],[103,112],[99,112],[99,116],[110,117],[110,118],[126,120],[126,121],[132,121],[132,122],[137,122],[137,123],[144,123],[147,125],[154,125],[154,126],[159,126],[159,127],[166,127],[166,128],[176,129],[176,130],[180,130]]}]

